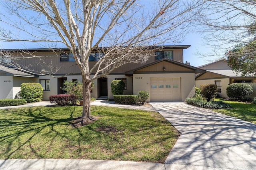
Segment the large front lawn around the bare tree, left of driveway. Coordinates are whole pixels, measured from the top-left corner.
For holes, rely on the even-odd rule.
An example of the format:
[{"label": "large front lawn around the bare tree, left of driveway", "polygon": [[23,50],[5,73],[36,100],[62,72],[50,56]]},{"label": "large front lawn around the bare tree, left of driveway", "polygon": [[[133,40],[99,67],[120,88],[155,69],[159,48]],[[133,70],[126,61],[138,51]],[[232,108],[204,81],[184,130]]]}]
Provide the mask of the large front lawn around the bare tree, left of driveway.
[{"label": "large front lawn around the bare tree, left of driveway", "polygon": [[159,113],[92,107],[94,123],[74,128],[81,106],[0,110],[0,159],[71,158],[163,163],[178,131]]}]

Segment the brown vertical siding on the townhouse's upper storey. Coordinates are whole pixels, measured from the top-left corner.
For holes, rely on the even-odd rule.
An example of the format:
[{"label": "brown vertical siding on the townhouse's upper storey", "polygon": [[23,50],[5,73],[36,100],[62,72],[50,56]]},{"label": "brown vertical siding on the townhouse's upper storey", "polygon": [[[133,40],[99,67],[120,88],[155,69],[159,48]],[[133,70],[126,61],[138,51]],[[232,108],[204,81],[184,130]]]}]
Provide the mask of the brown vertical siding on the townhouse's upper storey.
[{"label": "brown vertical siding on the townhouse's upper storey", "polygon": [[[183,49],[170,49],[169,51],[173,51],[173,60],[183,62]],[[44,51],[34,52],[33,54],[40,57],[30,57],[29,54],[23,53],[22,55],[18,56],[24,57],[24,59],[18,59],[16,62],[26,70],[37,71],[40,73],[50,73],[55,75],[64,75],[66,73],[81,74],[81,71],[76,62],[60,61],[60,52],[54,53],[52,51]],[[13,55],[16,56],[17,53],[14,53]],[[148,61],[145,63],[127,63],[121,67],[116,68],[114,71],[112,71],[112,73],[125,73],[126,71],[136,69],[154,61],[154,53],[152,53],[152,55],[148,56]],[[89,61],[90,69],[95,65],[95,63],[96,61]],[[95,72],[96,71],[93,71],[92,73]]]}]

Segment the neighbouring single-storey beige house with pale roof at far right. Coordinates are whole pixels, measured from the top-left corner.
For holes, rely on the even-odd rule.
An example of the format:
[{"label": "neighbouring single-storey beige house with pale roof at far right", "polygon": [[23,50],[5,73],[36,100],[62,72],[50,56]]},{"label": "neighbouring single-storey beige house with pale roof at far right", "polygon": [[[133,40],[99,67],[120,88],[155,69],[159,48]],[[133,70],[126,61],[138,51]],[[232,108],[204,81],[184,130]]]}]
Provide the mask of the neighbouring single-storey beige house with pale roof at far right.
[{"label": "neighbouring single-storey beige house with pale roof at far right", "polygon": [[[241,73],[231,70],[225,59],[214,61],[198,68],[204,69],[206,72],[196,75],[196,87],[200,88],[202,84],[216,84],[220,97],[228,97],[226,88],[232,83],[248,83],[255,89],[256,77],[242,76]],[[256,90],[254,90],[254,93],[256,93]]]}]

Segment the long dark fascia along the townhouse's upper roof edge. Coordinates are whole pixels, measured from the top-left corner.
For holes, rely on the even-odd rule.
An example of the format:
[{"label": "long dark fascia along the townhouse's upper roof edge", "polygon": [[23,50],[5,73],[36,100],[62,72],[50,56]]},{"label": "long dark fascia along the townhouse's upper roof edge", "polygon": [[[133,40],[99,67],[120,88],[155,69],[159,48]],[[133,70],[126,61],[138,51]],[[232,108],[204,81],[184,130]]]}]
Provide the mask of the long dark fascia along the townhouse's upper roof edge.
[{"label": "long dark fascia along the townhouse's upper roof edge", "polygon": [[[191,45],[154,45],[149,46],[152,49],[187,49]],[[147,47],[146,47],[147,48]],[[98,47],[98,49],[108,49],[108,47]],[[1,49],[1,51],[12,51],[12,52],[22,52],[22,51],[29,51],[29,52],[42,52],[42,51],[70,51],[69,48],[24,48],[24,49]]]}]

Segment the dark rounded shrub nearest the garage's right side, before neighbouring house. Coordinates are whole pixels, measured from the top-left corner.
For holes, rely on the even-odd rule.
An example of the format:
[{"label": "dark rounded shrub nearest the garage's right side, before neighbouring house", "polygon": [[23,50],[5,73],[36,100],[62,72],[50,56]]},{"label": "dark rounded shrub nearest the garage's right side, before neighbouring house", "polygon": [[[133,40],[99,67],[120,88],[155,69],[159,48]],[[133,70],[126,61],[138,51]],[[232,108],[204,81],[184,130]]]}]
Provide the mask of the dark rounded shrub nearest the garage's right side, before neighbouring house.
[{"label": "dark rounded shrub nearest the garage's right side, before neighbouring house", "polygon": [[217,85],[201,85],[201,95],[207,102],[213,100],[217,96]]}]

